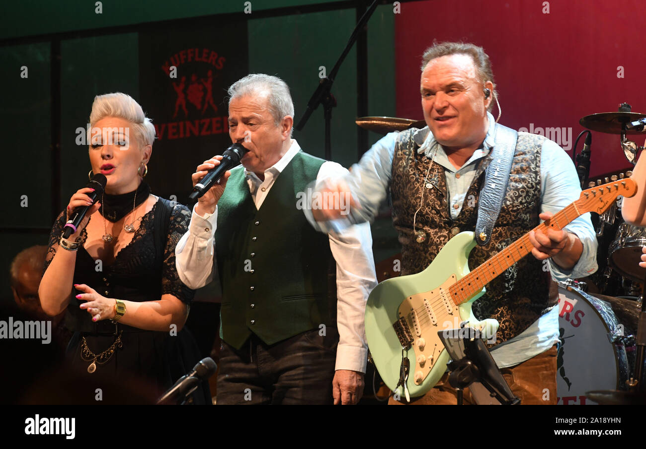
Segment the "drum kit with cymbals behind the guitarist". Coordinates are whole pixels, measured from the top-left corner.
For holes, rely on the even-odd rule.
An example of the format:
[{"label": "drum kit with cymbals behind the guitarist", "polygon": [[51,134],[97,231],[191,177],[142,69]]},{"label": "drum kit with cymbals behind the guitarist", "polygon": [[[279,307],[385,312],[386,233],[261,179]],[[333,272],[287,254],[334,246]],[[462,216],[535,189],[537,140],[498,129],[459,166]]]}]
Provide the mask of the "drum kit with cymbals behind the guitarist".
[{"label": "drum kit with cymbals behind the guitarist", "polygon": [[[586,115],[579,123],[588,130],[619,134],[623,155],[635,165],[638,151],[644,148],[627,136],[644,132],[646,120],[641,119],[646,119],[646,114],[631,112],[630,105],[622,103],[618,112]],[[641,126],[636,126],[640,120]],[[381,134],[426,126],[424,121],[395,117],[360,117],[356,123]],[[576,144],[574,147],[576,152]],[[577,163],[581,165],[579,159]],[[582,186],[587,183],[592,187],[623,177],[618,172],[590,181],[588,173],[578,171]],[[626,172],[627,176],[631,174]],[[621,199],[603,214],[593,215],[599,270],[579,281],[559,283],[558,403],[644,403],[646,388],[636,375],[643,374],[646,366],[636,340],[646,337],[643,326],[638,334],[640,310],[642,321],[646,316],[642,306],[646,268],[639,266],[641,248],[646,246],[646,228],[623,221]],[[383,274],[384,278],[396,275],[385,271]],[[638,364],[644,366],[643,371],[636,370]],[[636,394],[638,390],[641,396]]]}]

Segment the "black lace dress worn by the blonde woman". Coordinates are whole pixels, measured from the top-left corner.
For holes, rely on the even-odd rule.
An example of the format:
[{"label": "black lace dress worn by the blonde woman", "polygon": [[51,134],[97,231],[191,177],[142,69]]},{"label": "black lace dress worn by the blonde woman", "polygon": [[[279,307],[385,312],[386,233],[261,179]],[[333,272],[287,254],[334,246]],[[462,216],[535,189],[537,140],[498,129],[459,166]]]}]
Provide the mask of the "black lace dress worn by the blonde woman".
[{"label": "black lace dress worn by the blonde woman", "polygon": [[[64,214],[54,223],[45,269],[58,250]],[[94,217],[101,219],[98,213]],[[175,268],[175,245],[187,231],[190,220],[191,213],[185,206],[158,199],[152,210],[143,215],[132,241],[120,250],[114,263],[99,263],[83,246],[79,247],[74,284],[87,284],[105,297],[127,301],[156,301],[163,294],[171,294],[190,304],[194,290],[182,283]],[[81,238],[85,243],[85,230]],[[70,285],[65,326],[74,335],[67,346],[67,357],[75,374],[83,379],[113,377],[118,384],[145,384],[149,391],[161,395],[200,360],[198,347],[188,330],[176,332],[175,328],[173,332],[169,328],[168,332],[155,332],[112,324],[110,320],[93,323],[91,315],[79,308],[81,301],[74,297],[76,294]],[[99,354],[110,348],[118,333],[121,333],[122,347],[105,364],[97,364],[96,372],[90,374],[88,367],[92,361],[82,357],[82,337],[88,348]],[[206,383],[194,394],[194,399],[196,403],[210,403]]]}]

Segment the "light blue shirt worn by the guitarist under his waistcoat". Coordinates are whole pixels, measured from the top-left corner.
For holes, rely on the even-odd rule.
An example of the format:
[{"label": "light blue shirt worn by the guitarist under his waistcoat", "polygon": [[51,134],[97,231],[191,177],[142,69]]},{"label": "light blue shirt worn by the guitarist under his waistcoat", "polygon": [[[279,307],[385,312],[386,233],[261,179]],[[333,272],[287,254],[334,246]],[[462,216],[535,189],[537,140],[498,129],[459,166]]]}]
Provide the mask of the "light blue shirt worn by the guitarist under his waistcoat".
[{"label": "light blue shirt worn by the guitarist under his waistcoat", "polygon": [[[495,144],[494,117],[487,113],[488,131],[483,148],[475,150],[474,154],[459,169],[448,160],[443,146],[439,145],[428,127],[419,130],[413,137],[418,145],[419,154],[433,157],[433,161],[444,167],[446,175],[447,197],[450,199],[450,211],[453,219],[460,213],[464,197],[474,180],[477,163],[491,151]],[[358,164],[351,168],[350,174],[344,177],[349,190],[360,207],[350,208],[347,215],[327,223],[314,221],[311,211],[306,210],[310,223],[324,232],[330,230],[339,232],[350,224],[373,221],[379,205],[390,188],[393,155],[397,132],[391,132],[363,155]],[[519,133],[525,134],[525,133]],[[541,149],[541,208],[542,212],[556,214],[565,206],[576,201],[581,194],[578,175],[572,160],[557,143],[545,139]],[[320,183],[317,183],[317,187]],[[454,208],[457,205],[457,208]],[[581,215],[572,223],[565,226],[569,232],[576,234],[583,244],[583,253],[578,263],[571,270],[557,266],[548,259],[548,268],[556,281],[585,277],[597,270],[596,252],[597,239],[590,221],[590,214]],[[531,255],[527,257],[533,257]],[[547,314],[541,316],[529,328],[516,337],[495,346],[491,353],[499,368],[514,366],[535,355],[545,352],[559,341],[558,307],[555,306]]]}]

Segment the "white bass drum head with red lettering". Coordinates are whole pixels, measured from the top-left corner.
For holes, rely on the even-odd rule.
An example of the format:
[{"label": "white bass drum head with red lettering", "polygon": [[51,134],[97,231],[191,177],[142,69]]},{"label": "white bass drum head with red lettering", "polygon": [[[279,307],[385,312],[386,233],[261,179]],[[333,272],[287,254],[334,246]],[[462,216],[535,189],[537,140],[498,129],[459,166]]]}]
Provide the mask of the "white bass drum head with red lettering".
[{"label": "white bass drum head with red lettering", "polygon": [[596,404],[586,392],[623,388],[628,376],[625,348],[609,339],[620,332],[618,324],[610,304],[559,285],[558,404]]}]

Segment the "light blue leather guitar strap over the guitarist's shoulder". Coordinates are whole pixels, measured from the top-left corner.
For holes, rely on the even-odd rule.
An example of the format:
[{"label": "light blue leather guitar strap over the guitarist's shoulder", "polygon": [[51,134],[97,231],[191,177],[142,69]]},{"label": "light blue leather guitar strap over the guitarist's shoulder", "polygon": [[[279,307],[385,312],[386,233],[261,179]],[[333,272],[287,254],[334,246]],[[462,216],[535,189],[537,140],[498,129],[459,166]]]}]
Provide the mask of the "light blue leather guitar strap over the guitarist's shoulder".
[{"label": "light blue leather guitar strap over the guitarist's shoulder", "polygon": [[493,159],[485,170],[485,185],[478,199],[475,242],[479,245],[489,243],[495,222],[500,215],[509,184],[517,138],[518,133],[512,128],[495,124]]}]

